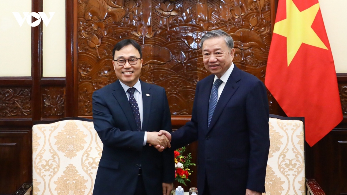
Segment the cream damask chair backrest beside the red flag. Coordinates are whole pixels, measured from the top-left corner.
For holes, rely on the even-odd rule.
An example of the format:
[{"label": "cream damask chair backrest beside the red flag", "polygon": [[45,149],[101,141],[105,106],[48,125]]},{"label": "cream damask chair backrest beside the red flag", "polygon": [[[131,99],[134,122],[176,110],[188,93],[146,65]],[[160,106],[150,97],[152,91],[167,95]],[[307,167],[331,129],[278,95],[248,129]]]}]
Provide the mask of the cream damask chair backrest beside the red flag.
[{"label": "cream damask chair backrest beside the red flag", "polygon": [[266,194],[305,194],[304,119],[270,115],[269,127]]}]

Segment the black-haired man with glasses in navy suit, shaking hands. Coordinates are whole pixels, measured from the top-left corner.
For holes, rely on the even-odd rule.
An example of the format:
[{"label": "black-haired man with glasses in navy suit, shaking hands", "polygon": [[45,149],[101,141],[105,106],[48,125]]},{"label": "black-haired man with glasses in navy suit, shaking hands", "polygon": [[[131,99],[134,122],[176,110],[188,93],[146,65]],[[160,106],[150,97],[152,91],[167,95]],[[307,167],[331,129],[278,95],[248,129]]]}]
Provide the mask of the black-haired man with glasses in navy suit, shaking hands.
[{"label": "black-haired man with glasses in navy suit, shaking hands", "polygon": [[113,48],[118,80],[93,93],[94,128],[104,144],[93,195],[169,195],[175,180],[174,152],[160,129],[171,132],[164,88],[139,80],[141,47],[134,40]]}]

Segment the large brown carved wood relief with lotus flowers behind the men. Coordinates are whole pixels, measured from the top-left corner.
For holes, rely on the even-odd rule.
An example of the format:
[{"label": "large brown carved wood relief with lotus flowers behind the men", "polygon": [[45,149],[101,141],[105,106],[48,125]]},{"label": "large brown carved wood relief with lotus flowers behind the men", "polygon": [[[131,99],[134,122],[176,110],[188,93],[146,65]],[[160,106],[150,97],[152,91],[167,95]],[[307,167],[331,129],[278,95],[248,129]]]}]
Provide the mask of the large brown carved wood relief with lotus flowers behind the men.
[{"label": "large brown carved wood relief with lotus flowers behind the men", "polygon": [[78,0],[78,115],[91,116],[92,93],[117,80],[122,39],[142,45],[140,78],[166,89],[172,115],[191,115],[196,83],[210,74],[199,44],[212,29],[230,34],[235,65],[264,81],[270,0]]}]

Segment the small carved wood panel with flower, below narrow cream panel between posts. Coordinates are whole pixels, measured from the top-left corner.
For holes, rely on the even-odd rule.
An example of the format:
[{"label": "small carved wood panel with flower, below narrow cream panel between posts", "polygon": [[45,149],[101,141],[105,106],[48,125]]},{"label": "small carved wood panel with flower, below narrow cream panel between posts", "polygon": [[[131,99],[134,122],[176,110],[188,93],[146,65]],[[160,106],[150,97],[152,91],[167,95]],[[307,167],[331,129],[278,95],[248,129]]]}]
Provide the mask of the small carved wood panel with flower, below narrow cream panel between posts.
[{"label": "small carved wood panel with flower, below narrow cream panel between posts", "polygon": [[42,118],[45,118],[46,116],[64,117],[64,112],[65,88],[44,87],[42,89]]}]

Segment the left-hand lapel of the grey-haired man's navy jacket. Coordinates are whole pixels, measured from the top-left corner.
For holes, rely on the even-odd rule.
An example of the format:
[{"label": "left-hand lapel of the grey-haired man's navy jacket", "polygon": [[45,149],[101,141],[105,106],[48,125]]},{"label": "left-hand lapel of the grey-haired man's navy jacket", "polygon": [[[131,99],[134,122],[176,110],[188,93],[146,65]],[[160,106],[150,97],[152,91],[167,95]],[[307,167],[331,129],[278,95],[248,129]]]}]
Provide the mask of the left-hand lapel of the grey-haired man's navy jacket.
[{"label": "left-hand lapel of the grey-haired man's navy jacket", "polygon": [[207,131],[208,128],[208,115],[209,115],[209,104],[210,104],[210,96],[211,96],[211,90],[213,85],[214,75],[211,75],[210,78],[208,78],[206,82],[206,86],[200,87],[199,95],[202,97],[202,100],[199,101],[199,104],[202,105],[202,121],[204,128],[204,131]]}]

